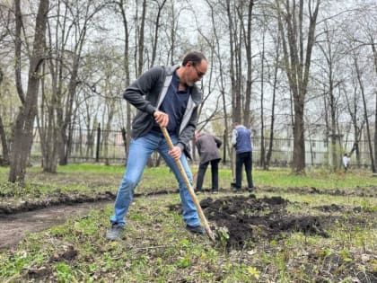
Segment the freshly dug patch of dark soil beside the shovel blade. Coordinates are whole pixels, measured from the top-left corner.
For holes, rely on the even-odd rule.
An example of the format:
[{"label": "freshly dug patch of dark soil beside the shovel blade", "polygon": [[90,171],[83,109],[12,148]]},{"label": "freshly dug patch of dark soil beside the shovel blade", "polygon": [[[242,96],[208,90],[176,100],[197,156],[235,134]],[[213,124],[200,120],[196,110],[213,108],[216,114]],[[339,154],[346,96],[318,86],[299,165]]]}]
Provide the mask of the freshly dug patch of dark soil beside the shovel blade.
[{"label": "freshly dug patch of dark soil beside the shovel blade", "polygon": [[[341,217],[294,216],[286,210],[288,200],[281,197],[256,199],[255,195],[230,196],[221,199],[202,199],[200,206],[207,220],[215,226],[211,229],[219,236],[229,234],[228,250],[242,250],[246,245],[258,243],[260,238],[278,240],[289,232],[329,237],[326,228]],[[339,209],[337,205],[323,207],[325,211]],[[170,207],[180,210],[180,204]],[[363,222],[349,217],[350,223]],[[220,233],[220,234],[219,234]]]}]

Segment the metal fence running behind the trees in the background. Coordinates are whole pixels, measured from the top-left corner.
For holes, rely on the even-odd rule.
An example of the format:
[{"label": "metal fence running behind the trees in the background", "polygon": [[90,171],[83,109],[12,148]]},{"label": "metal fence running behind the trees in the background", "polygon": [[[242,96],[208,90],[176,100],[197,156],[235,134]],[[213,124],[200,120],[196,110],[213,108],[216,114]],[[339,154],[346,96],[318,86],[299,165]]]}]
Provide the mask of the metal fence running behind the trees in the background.
[{"label": "metal fence running behind the trees in the background", "polygon": [[[34,143],[31,148],[31,161],[38,163],[41,160],[41,149],[39,135],[34,136]],[[231,137],[219,137],[224,143],[231,143]],[[269,146],[269,140],[264,140],[265,149]],[[338,163],[341,156],[349,152],[354,145],[353,140],[341,142],[338,145]],[[195,148],[192,142],[191,148]],[[229,148],[232,148],[230,146]],[[253,163],[258,165],[260,159],[261,140],[260,137],[253,137]],[[293,158],[294,139],[293,138],[274,138],[273,150],[271,155],[271,166],[289,166]],[[370,165],[369,147],[366,141],[359,142],[360,164],[364,167]],[[323,139],[305,140],[305,162],[306,165],[327,165],[330,164],[329,144]],[[223,164],[230,164],[231,156],[222,150]],[[71,152],[68,156],[68,163],[94,163],[107,162],[109,164],[125,164],[127,159],[126,146],[124,144],[122,132],[120,130],[104,130],[96,128],[94,130],[75,129],[73,131]],[[194,153],[194,163],[198,156]],[[351,163],[355,164],[354,156]]]}]

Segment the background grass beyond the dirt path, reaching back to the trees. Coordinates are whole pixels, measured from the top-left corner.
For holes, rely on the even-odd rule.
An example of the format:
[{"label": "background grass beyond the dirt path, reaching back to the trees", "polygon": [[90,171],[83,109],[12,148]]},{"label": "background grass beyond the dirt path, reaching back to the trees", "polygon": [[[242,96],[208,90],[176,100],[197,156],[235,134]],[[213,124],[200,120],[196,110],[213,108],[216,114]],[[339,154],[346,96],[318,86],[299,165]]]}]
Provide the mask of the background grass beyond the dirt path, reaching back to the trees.
[{"label": "background grass beyond the dirt path, reaching back to the trees", "polygon": [[[196,172],[197,167],[192,168]],[[125,172],[123,166],[106,166],[103,164],[69,164],[58,166],[57,173],[42,172],[40,167],[27,169],[24,186],[7,181],[9,168],[0,167],[0,193],[4,195],[1,203],[20,203],[33,199],[57,199],[62,193],[75,192],[77,195],[96,196],[110,191],[116,194],[118,185]],[[295,175],[289,170],[252,172],[254,185],[257,188],[317,188],[320,190],[353,190],[356,188],[370,188],[377,186],[377,179],[370,172],[335,172],[311,171],[306,175]],[[232,172],[229,169],[219,171],[220,188],[230,189]],[[246,181],[243,180],[243,185]],[[167,167],[145,168],[144,175],[136,188],[136,193],[148,194],[158,190],[175,191],[177,181]],[[211,188],[210,170],[206,172],[204,189]],[[7,198],[6,196],[11,195]]]}]

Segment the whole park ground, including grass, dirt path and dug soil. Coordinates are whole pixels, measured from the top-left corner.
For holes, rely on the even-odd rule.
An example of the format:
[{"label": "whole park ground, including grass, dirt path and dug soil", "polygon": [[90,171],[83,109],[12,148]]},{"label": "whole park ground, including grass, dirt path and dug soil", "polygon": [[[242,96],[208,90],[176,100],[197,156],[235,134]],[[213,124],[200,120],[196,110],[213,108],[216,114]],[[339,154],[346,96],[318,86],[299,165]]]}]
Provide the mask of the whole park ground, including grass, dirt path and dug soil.
[{"label": "whole park ground, including grass, dirt path and dug soil", "polygon": [[[253,173],[234,194],[198,196],[216,234],[189,234],[166,168],[145,171],[121,240],[104,238],[120,166],[30,168],[25,185],[0,169],[4,282],[377,282],[377,179],[370,172]],[[205,185],[209,188],[209,172]],[[11,231],[11,232],[9,232]]]}]

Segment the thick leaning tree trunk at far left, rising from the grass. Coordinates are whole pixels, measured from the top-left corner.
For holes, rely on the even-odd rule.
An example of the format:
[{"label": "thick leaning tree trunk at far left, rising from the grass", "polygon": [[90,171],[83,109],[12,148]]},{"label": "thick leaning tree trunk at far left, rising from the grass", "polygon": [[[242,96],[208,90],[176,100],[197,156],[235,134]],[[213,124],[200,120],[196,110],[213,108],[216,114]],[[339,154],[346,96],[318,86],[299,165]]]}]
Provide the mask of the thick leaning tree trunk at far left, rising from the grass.
[{"label": "thick leaning tree trunk at far left, rising from the grass", "polygon": [[[37,115],[37,103],[39,92],[39,70],[44,60],[46,23],[48,19],[48,0],[40,0],[35,24],[33,49],[30,57],[28,76],[28,89],[24,103],[17,115],[13,130],[13,146],[11,154],[11,170],[9,181],[24,181],[26,166],[31,152],[34,119]],[[16,21],[22,25],[22,13],[20,0],[15,0]],[[16,34],[17,40],[21,40],[21,31]],[[21,69],[16,70],[16,73]],[[19,74],[16,74],[19,75]],[[19,96],[23,93],[19,93]]]}]

